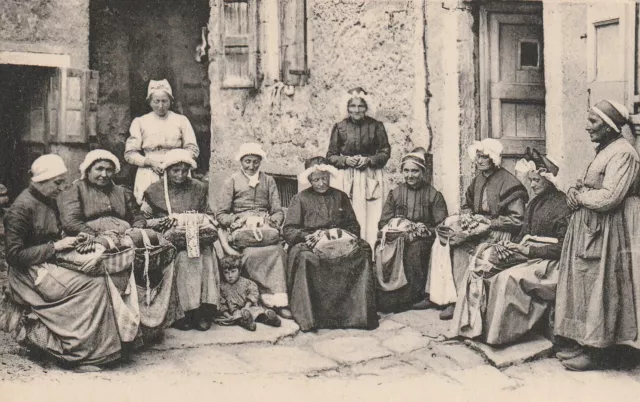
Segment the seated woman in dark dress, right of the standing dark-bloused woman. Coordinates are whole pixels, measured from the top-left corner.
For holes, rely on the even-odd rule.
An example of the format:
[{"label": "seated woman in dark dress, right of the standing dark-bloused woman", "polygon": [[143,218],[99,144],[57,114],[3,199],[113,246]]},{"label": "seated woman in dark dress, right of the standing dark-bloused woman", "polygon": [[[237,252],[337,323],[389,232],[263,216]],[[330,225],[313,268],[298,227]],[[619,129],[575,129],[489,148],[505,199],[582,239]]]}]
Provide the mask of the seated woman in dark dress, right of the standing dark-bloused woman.
[{"label": "seated woman in dark dress, right of the standing dark-bloused woman", "polygon": [[[404,183],[389,193],[382,209],[380,228],[384,230],[393,218],[407,219],[415,225],[414,233],[401,241],[403,250],[396,250],[393,258],[386,263],[376,261],[377,269],[392,271],[401,266],[407,283],[395,289],[385,289],[379,284],[378,310],[402,311],[407,309],[426,309],[430,303],[426,299],[425,284],[429,272],[431,246],[434,241],[435,227],[447,217],[447,204],[444,197],[426,180],[424,149],[417,148],[402,157],[401,164]],[[396,241],[384,247],[394,247]],[[378,252],[377,252],[378,253]],[[376,254],[379,259],[383,254]],[[401,261],[397,261],[398,259]],[[378,273],[379,278],[381,277]]]}]

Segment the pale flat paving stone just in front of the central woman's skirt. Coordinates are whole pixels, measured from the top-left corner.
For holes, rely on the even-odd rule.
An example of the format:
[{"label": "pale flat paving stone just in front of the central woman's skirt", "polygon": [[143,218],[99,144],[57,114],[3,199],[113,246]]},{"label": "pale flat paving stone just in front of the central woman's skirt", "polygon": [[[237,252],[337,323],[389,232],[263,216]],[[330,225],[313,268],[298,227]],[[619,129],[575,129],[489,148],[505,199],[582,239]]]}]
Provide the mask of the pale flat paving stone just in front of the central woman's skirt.
[{"label": "pale flat paving stone just in front of the central woman's skirt", "polygon": [[391,352],[372,337],[352,336],[317,342],[313,349],[341,364],[354,364],[391,356]]}]

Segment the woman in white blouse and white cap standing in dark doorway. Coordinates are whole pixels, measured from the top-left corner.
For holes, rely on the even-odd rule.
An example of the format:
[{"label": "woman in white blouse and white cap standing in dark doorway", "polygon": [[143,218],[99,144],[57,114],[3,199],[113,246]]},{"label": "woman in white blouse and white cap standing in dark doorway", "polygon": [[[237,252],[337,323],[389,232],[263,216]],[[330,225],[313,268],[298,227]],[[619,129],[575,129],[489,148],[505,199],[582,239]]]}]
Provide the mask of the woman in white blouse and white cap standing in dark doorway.
[{"label": "woman in white blouse and white cap standing in dark doorway", "polygon": [[142,203],[144,191],[160,180],[163,156],[171,149],[183,148],[193,159],[200,150],[189,119],[174,113],[169,108],[173,92],[167,80],[149,82],[147,101],[151,112],[136,117],[131,123],[124,151],[124,159],[138,166],[133,194],[138,204]]}]

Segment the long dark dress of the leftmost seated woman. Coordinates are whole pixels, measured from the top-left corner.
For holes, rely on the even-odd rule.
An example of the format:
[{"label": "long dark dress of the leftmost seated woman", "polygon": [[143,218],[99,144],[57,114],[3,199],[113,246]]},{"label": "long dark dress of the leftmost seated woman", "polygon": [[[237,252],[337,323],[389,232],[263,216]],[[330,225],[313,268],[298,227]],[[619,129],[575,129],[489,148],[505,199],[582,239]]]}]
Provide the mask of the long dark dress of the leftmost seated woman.
[{"label": "long dark dress of the leftmost seated woman", "polygon": [[114,310],[104,277],[55,264],[60,239],[56,204],[30,187],[4,220],[9,285],[28,306],[27,340],[69,364],[103,364],[120,357]]}]

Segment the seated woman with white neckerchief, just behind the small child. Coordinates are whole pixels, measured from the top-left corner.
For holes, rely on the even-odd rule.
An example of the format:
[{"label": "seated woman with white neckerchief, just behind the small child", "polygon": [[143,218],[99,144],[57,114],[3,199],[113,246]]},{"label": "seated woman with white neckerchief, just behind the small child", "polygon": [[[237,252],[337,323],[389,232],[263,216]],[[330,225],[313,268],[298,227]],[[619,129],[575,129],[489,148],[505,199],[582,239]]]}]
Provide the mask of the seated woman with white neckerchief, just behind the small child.
[{"label": "seated woman with white neckerchief, just behind the small child", "polygon": [[[256,143],[243,144],[236,156],[240,170],[226,181],[216,219],[224,230],[220,243],[226,254],[241,253],[244,275],[258,284],[264,305],[282,318],[290,319],[284,263],[286,253],[278,230],[284,213],[273,177],[260,171],[267,155]],[[269,231],[266,239],[260,233]],[[256,235],[249,242],[244,234]],[[267,241],[268,240],[268,241]]]}]

